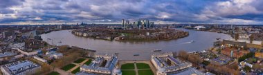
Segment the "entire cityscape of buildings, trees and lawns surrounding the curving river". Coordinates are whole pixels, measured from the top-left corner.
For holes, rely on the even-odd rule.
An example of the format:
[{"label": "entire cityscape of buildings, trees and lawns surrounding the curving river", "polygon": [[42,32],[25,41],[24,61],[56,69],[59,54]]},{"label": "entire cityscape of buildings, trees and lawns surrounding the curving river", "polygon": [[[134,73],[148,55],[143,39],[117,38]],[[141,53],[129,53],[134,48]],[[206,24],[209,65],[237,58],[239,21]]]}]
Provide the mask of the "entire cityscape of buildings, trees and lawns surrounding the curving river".
[{"label": "entire cityscape of buildings, trees and lawns surrounding the curving river", "polygon": [[[118,53],[43,41],[41,34],[71,30],[75,36],[108,41],[163,41],[217,32],[233,39],[216,39],[201,52],[153,50],[149,60],[122,61]],[[156,24],[147,19],[120,24],[0,25],[0,65],[3,75],[218,75],[262,74],[263,26],[219,24]],[[57,36],[60,36],[57,34]],[[54,39],[48,39],[53,42]],[[60,41],[64,42],[64,41]],[[194,41],[191,41],[194,42]],[[198,45],[197,45],[198,46]],[[103,45],[102,45],[103,47]],[[140,56],[134,54],[134,56]],[[132,58],[132,57],[131,57]]]}]

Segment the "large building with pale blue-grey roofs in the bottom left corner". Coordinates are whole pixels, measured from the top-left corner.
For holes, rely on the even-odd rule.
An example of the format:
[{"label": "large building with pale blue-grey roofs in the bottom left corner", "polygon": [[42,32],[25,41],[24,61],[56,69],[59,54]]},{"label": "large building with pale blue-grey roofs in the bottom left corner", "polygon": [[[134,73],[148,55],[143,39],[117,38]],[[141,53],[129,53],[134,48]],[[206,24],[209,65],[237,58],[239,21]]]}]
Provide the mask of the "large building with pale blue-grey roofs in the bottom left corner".
[{"label": "large building with pale blue-grey roofs in the bottom left corner", "polygon": [[17,61],[1,66],[3,75],[31,75],[41,69],[41,66],[32,61]]}]

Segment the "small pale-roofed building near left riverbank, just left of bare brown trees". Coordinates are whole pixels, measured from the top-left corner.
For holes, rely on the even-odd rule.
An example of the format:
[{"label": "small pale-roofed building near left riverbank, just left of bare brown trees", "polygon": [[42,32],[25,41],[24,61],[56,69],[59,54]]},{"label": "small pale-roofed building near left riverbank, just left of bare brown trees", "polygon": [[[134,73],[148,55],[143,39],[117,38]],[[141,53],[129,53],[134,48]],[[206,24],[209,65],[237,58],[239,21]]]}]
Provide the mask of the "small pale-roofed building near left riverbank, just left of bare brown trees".
[{"label": "small pale-roofed building near left riverbank, just left of bare brown trees", "polygon": [[62,58],[63,54],[60,52],[55,52],[55,51],[51,51],[51,52],[46,52],[46,56],[48,56],[48,58]]}]

